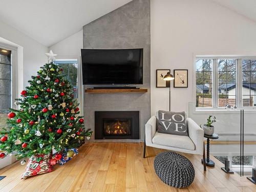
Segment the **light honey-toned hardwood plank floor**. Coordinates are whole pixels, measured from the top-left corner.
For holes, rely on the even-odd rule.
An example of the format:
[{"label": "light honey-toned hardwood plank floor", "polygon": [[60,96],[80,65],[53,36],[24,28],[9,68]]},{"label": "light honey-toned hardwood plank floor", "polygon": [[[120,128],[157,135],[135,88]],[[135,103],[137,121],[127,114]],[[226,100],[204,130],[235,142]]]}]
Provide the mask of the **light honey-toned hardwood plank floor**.
[{"label": "light honey-toned hardwood plank floor", "polygon": [[162,152],[147,147],[143,159],[143,143],[87,143],[79,149],[78,156],[65,165],[55,165],[52,173],[20,180],[26,165],[19,161],[0,169],[0,191],[186,191],[186,192],[236,192],[256,191],[256,185],[246,177],[228,175],[220,169],[223,164],[214,159],[215,168],[204,172],[201,156],[186,156],[194,165],[194,182],[183,189],[164,184],[155,174],[154,158]]}]

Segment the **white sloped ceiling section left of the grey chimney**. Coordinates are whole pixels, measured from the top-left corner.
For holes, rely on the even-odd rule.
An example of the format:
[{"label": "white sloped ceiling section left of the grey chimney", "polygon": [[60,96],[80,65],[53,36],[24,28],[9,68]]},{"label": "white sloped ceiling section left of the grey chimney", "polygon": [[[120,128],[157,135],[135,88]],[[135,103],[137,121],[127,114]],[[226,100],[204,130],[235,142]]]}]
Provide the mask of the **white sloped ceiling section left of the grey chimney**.
[{"label": "white sloped ceiling section left of the grey chimney", "polygon": [[0,19],[49,47],[129,2],[131,0],[0,0]]}]

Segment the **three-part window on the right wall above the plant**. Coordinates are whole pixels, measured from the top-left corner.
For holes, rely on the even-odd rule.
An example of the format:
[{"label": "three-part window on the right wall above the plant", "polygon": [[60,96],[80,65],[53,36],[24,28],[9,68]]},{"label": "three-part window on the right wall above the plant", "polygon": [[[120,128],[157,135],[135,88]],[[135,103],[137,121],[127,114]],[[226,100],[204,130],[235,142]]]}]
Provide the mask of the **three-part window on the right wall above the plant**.
[{"label": "three-part window on the right wall above the plant", "polygon": [[196,107],[256,106],[256,59],[196,58]]}]

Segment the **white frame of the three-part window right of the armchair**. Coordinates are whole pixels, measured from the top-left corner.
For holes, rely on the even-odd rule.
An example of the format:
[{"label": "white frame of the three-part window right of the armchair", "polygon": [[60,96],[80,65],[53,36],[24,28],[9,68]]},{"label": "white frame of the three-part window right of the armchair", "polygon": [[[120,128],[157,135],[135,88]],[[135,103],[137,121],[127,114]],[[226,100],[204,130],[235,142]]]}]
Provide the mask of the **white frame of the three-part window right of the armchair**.
[{"label": "white frame of the three-part window right of the armchair", "polygon": [[197,76],[196,76],[196,61],[198,59],[212,59],[212,107],[198,107],[197,111],[209,110],[225,110],[224,107],[218,106],[218,59],[236,59],[236,103],[240,109],[256,110],[256,106],[243,106],[243,80],[242,80],[242,59],[256,59],[256,56],[251,55],[194,55],[194,101],[197,97]]}]

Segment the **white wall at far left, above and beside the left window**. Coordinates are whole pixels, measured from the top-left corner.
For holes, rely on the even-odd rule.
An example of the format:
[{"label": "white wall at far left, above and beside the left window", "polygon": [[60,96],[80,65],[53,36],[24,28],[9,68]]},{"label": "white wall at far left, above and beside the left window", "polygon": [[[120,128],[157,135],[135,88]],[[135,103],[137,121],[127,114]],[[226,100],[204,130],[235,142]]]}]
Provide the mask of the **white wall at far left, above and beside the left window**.
[{"label": "white wall at far left, above and beside the left window", "polygon": [[[23,47],[23,85],[24,87],[27,86],[31,75],[35,75],[39,67],[45,65],[47,62],[45,53],[48,52],[48,48],[1,20],[0,37]],[[18,93],[20,91],[18,90]]]}]

